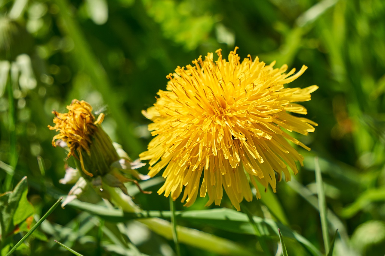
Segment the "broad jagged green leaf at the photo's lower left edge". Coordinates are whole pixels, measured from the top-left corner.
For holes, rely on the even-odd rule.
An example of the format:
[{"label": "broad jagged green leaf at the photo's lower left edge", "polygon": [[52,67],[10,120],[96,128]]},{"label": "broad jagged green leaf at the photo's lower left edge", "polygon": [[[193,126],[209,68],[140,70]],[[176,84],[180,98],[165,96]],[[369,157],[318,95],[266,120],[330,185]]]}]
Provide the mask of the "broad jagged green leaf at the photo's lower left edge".
[{"label": "broad jagged green leaf at the photo's lower left edge", "polygon": [[13,191],[0,195],[0,224],[3,238],[14,231],[15,227],[18,229],[17,225],[34,213],[32,204],[27,200],[27,193],[27,177],[24,177]]}]

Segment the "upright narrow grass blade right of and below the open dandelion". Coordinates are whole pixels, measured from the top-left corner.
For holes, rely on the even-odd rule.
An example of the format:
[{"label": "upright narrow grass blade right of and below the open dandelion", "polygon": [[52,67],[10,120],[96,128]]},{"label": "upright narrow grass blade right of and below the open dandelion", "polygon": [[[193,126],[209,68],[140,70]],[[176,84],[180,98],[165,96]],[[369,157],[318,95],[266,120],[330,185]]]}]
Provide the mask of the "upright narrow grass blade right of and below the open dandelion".
[{"label": "upright narrow grass blade right of and below the open dandelion", "polygon": [[321,168],[320,168],[320,163],[318,162],[318,157],[314,158],[314,162],[315,162],[315,180],[317,183],[318,206],[320,208],[323,243],[325,245],[325,252],[327,252],[329,251],[329,232],[328,232],[328,221],[326,219],[325,192],[323,191]]}]

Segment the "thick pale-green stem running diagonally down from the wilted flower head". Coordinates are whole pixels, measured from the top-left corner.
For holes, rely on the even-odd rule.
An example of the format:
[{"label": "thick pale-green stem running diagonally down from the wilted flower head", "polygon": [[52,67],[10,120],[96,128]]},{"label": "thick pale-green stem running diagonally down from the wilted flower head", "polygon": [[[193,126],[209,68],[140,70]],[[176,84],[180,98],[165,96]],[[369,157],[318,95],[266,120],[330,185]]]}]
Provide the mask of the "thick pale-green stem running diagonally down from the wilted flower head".
[{"label": "thick pale-green stem running diagonally down from the wilted flower head", "polygon": [[[132,201],[127,200],[127,196],[123,193],[118,193],[115,188],[103,184],[104,192],[109,194],[109,198],[115,205],[119,206],[123,211],[128,213],[141,212],[142,209],[134,205]],[[131,199],[130,199],[131,200]],[[155,233],[171,240],[173,225],[171,222],[159,218],[137,219],[137,221],[145,224],[149,229]],[[219,238],[212,234],[204,233],[202,231],[176,226],[179,243],[188,244],[196,248],[211,251],[221,255],[254,255],[234,243],[229,243],[227,239]]]}]

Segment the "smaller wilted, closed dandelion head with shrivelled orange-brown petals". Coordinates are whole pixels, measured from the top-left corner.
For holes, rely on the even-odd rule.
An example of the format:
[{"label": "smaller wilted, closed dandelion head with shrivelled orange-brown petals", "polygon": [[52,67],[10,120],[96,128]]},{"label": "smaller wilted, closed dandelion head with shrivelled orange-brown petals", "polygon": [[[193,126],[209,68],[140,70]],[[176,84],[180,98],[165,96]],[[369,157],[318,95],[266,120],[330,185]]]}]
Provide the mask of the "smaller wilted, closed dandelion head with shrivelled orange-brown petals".
[{"label": "smaller wilted, closed dandelion head with shrivelled orange-brown petals", "polygon": [[[113,143],[100,126],[103,113],[96,119],[89,103],[79,100],[73,100],[67,109],[68,113],[53,111],[55,126],[48,126],[50,130],[59,131],[52,139],[52,145],[68,147],[67,158],[74,156],[81,170],[68,167],[64,179],[59,181],[63,184],[76,182],[62,206],[83,193],[88,183],[101,191],[104,185],[108,185],[121,188],[127,194],[123,183],[134,181],[137,184],[127,175],[142,180],[149,178],[134,170],[144,164],[139,160],[131,161],[121,145]],[[107,194],[105,196],[108,197]]]}]

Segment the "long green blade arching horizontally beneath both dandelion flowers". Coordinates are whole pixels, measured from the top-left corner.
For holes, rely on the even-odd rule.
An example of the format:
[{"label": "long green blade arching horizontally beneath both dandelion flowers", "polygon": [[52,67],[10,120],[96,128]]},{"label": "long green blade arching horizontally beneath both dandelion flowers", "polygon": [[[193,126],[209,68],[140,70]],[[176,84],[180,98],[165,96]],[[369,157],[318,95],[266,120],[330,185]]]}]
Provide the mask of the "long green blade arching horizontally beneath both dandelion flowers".
[{"label": "long green blade arching horizontally beneath both dandelion flowers", "polygon": [[[104,206],[80,202],[79,200],[74,200],[69,203],[69,205],[76,209],[97,215],[100,218],[104,218],[105,220],[111,222],[122,222],[128,221],[130,219],[152,217],[171,219],[170,211],[141,211],[139,213],[126,213],[120,209],[110,209]],[[198,211],[176,211],[175,214],[178,220],[209,225],[214,228],[239,234],[255,234],[254,228],[249,222],[247,215],[233,209],[221,208]],[[283,224],[276,223],[272,219],[263,219],[257,216],[254,216],[253,219],[259,227],[261,236],[272,236],[278,238],[278,228],[280,228],[280,230],[285,234],[286,238],[297,240],[300,244],[303,245],[304,248],[310,252],[311,255],[322,255],[320,251],[318,251],[318,249],[316,249],[315,246],[311,244],[306,238],[296,233],[295,231],[292,231],[290,228],[284,226]]]}]

